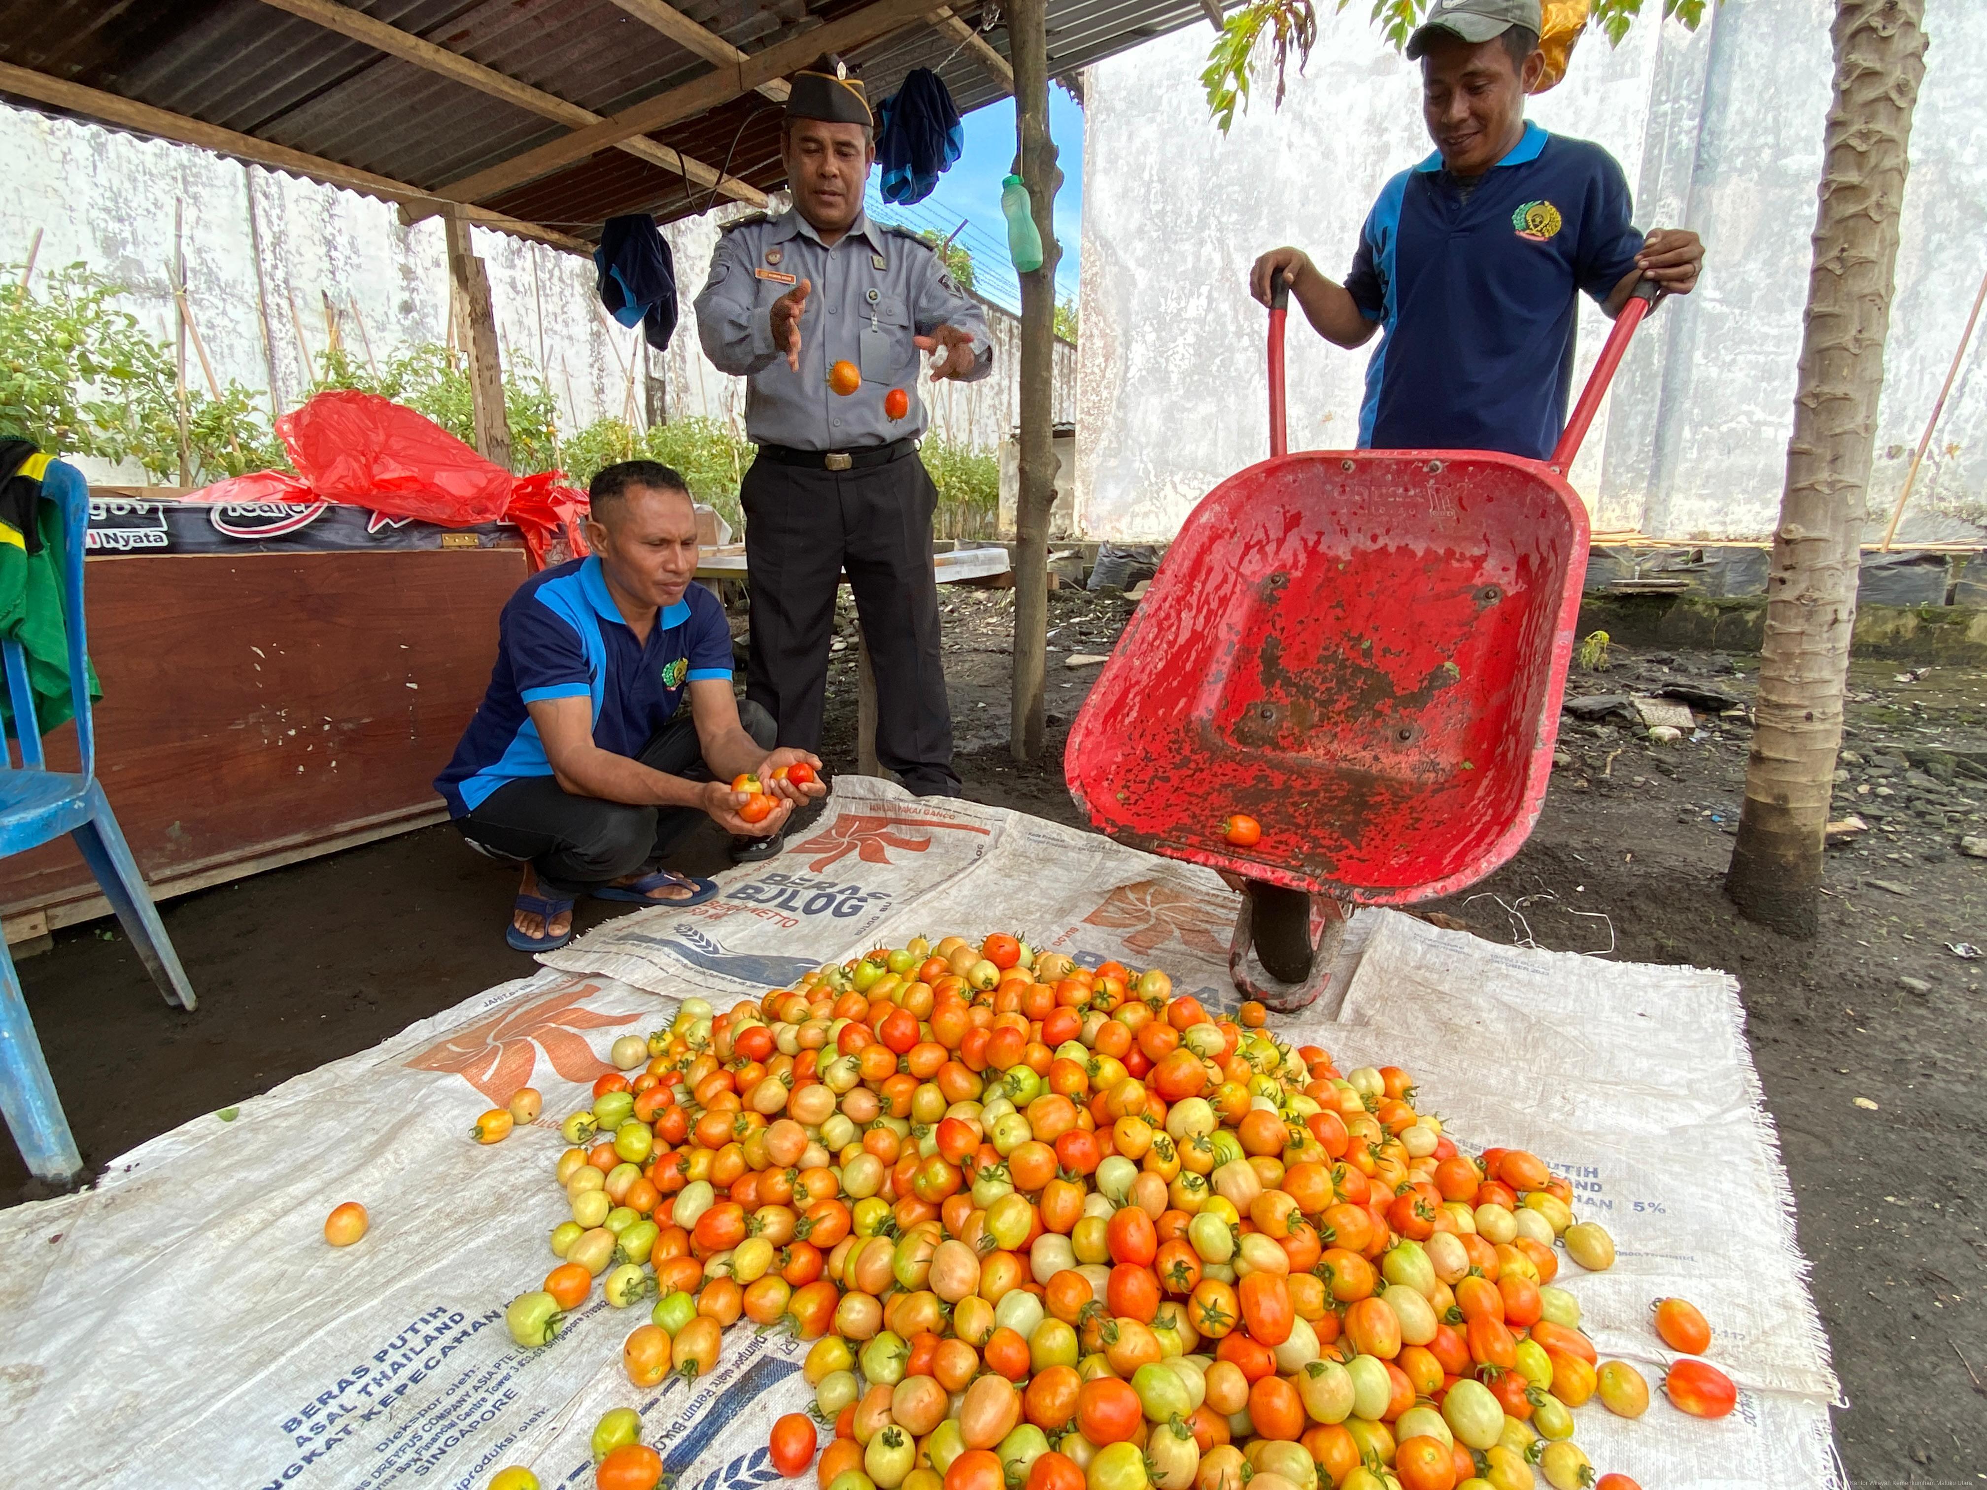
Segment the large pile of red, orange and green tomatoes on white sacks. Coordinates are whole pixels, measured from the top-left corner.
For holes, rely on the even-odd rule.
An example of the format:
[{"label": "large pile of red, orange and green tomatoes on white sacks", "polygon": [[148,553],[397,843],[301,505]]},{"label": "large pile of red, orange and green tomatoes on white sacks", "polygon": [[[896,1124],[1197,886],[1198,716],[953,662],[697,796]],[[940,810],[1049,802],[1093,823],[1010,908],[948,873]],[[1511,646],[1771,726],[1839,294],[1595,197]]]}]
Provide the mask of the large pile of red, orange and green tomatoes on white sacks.
[{"label": "large pile of red, orange and green tomatoes on white sacks", "polygon": [[[1011,936],[688,999],[564,1120],[572,1220],[513,1333],[602,1281],[650,1305],[638,1387],[739,1319],[815,1341],[771,1458],[803,1474],[831,1426],[821,1490],[1596,1484],[1574,1409],[1649,1389],[1554,1279],[1607,1234],[1534,1154],[1458,1152],[1405,1071],[1262,1023]],[[1701,1361],[1665,1385],[1731,1411]]]}]

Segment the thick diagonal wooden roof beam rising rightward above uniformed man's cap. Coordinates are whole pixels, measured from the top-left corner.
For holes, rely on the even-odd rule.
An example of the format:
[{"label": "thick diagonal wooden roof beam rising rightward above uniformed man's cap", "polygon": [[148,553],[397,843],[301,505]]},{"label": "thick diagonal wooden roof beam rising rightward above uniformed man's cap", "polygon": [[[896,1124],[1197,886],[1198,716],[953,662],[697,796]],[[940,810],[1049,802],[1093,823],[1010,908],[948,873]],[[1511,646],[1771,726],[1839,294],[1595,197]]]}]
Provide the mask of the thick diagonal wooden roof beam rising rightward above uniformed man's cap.
[{"label": "thick diagonal wooden roof beam rising rightward above uniformed man's cap", "polygon": [[[437,195],[459,203],[479,203],[499,197],[515,187],[523,187],[527,181],[536,181],[552,171],[584,161],[588,155],[620,145],[624,139],[646,135],[652,129],[666,129],[721,103],[729,103],[741,93],[753,91],[759,83],[805,68],[823,52],[852,52],[858,46],[868,46],[890,32],[920,22],[930,10],[932,0],[874,0],[874,4],[839,16],[827,26],[815,26],[799,36],[789,36],[761,52],[747,52],[735,68],[715,68],[682,87],[672,87],[634,107],[622,109],[602,123],[588,129],[574,129],[564,139],[548,141],[536,149],[513,155],[509,161],[467,175],[461,181],[451,181]],[[439,209],[429,207],[425,215],[433,215],[435,211]]]}]

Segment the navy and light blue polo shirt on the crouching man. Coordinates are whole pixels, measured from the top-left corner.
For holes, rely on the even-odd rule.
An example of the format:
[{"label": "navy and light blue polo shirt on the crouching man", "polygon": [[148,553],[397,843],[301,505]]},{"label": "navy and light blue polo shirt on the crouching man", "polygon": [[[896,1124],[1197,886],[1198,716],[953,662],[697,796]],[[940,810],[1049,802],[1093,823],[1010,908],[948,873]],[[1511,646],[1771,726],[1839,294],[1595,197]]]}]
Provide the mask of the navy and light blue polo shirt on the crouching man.
[{"label": "navy and light blue polo shirt on the crouching man", "polygon": [[670,723],[684,687],[705,677],[731,677],[731,628],[701,584],[636,642],[598,558],[533,574],[505,602],[489,691],[435,791],[449,817],[463,817],[511,781],[552,775],[525,707],[538,699],[592,699],[594,745],[636,759]]}]

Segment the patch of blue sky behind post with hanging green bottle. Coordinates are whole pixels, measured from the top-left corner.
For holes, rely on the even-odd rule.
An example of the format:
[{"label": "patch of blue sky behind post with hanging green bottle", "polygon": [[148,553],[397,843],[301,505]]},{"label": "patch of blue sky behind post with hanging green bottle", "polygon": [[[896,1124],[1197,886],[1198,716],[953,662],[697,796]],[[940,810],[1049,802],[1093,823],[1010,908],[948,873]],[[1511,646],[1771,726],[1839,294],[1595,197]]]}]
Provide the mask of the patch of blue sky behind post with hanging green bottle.
[{"label": "patch of blue sky behind post with hanging green bottle", "polygon": [[[912,207],[890,207],[876,195],[878,175],[870,177],[868,209],[892,223],[912,228],[938,228],[950,234],[960,228],[958,242],[974,256],[974,284],[988,300],[1019,310],[1021,294],[1007,258],[1007,223],[999,215],[999,183],[1013,165],[1013,99],[1003,97],[974,109],[964,119],[966,149],[958,163],[938,179],[938,189]],[[1083,109],[1057,85],[1049,87],[1049,135],[1059,151],[1063,189],[1055,193],[1055,236],[1063,258],[1055,270],[1057,298],[1077,298],[1077,252],[1083,242]]]}]

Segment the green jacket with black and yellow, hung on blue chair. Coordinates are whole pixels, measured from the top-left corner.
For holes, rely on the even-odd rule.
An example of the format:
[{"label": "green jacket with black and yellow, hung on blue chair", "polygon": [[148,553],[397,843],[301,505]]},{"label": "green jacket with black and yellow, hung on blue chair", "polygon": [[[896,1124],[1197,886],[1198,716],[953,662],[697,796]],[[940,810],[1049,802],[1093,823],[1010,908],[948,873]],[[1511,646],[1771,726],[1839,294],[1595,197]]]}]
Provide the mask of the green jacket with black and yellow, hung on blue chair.
[{"label": "green jacket with black and yellow, hung on blue chair", "polygon": [[[26,654],[34,719],[44,735],[76,713],[62,608],[62,507],[42,493],[50,459],[28,441],[0,441],[0,638],[20,642]],[[95,670],[87,675],[89,697],[103,697]],[[10,689],[0,693],[0,717],[8,735],[18,737]]]}]

